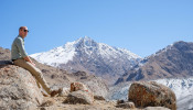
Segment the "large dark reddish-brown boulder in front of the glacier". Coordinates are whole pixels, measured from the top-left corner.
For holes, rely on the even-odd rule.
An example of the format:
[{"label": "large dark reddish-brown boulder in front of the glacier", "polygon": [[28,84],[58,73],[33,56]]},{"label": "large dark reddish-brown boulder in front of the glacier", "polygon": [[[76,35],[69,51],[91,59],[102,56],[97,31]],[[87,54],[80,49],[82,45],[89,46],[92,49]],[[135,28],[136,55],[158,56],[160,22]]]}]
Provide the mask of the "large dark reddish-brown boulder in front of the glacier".
[{"label": "large dark reddish-brown boulder in front of the glacier", "polygon": [[135,102],[136,107],[165,107],[176,110],[174,92],[170,88],[154,81],[131,84],[128,99]]}]

